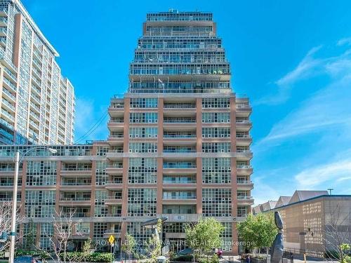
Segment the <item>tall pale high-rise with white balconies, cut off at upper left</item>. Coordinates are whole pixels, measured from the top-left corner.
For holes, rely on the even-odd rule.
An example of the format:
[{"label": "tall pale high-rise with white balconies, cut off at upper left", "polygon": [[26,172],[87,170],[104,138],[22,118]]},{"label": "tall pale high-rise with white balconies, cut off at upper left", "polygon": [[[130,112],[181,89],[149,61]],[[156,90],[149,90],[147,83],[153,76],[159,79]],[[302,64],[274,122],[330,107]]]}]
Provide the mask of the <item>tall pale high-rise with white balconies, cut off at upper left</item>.
[{"label": "tall pale high-rise with white balconies, cut off at upper left", "polygon": [[0,1],[0,144],[71,144],[74,89],[18,0]]}]

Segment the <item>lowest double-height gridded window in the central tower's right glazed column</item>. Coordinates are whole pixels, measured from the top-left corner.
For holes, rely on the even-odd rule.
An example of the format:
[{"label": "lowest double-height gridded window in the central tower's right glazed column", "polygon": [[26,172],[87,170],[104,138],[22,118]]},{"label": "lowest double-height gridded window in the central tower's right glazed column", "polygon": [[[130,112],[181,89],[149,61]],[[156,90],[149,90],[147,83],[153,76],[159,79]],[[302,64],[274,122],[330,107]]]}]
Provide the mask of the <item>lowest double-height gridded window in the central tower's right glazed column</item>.
[{"label": "lowest double-height gridded window in the central tower's right glazed column", "polygon": [[202,189],[202,215],[206,217],[232,216],[232,190]]}]

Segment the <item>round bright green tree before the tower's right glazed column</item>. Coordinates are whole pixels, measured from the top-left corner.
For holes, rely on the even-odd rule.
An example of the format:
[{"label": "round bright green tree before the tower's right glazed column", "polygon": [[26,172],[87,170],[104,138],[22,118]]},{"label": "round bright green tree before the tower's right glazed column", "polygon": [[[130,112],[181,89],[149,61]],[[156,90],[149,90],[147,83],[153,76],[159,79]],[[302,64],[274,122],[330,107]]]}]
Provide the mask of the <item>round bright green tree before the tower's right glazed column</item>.
[{"label": "round bright green tree before the tower's right glazed column", "polygon": [[222,234],[223,230],[223,225],[213,217],[199,220],[194,225],[187,224],[185,235],[188,245],[194,251],[194,260],[195,252],[198,252],[199,255],[208,255],[213,248],[220,247],[220,234]]}]

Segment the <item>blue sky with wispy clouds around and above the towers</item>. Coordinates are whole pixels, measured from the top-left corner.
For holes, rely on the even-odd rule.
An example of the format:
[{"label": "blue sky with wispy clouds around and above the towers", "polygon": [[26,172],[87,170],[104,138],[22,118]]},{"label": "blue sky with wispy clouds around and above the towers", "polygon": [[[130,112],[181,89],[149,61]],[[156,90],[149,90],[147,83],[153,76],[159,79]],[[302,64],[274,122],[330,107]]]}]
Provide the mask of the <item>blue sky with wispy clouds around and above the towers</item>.
[{"label": "blue sky with wispy clouds around and above the towers", "polygon": [[[147,12],[211,11],[232,87],[253,104],[256,203],[295,189],[351,194],[350,1],[23,0],[77,96],[76,138],[128,86]],[[87,139],[107,136],[105,120]]]}]

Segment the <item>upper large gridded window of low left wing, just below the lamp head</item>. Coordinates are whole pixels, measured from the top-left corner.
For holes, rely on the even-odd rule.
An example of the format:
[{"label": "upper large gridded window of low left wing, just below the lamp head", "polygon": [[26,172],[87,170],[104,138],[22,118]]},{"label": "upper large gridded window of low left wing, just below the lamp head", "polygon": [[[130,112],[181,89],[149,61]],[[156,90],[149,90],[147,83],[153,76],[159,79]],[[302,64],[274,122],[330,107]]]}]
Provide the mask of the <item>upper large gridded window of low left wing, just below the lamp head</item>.
[{"label": "upper large gridded window of low left wing, just below the lamp head", "polygon": [[55,161],[28,161],[27,185],[55,185],[57,167]]}]

